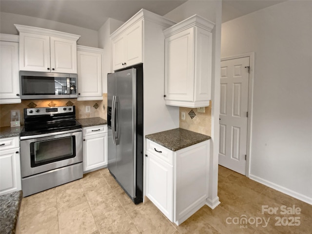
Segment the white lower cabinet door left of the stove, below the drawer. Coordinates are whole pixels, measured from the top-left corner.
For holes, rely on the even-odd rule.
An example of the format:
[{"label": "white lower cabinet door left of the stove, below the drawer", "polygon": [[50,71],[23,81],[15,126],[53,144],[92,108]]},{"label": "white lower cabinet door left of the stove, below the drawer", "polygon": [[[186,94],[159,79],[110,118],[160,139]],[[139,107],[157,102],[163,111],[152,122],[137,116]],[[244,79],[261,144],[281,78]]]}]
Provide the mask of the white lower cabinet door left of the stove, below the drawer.
[{"label": "white lower cabinet door left of the stove, below the drawer", "polygon": [[21,190],[20,148],[0,151],[0,195]]}]

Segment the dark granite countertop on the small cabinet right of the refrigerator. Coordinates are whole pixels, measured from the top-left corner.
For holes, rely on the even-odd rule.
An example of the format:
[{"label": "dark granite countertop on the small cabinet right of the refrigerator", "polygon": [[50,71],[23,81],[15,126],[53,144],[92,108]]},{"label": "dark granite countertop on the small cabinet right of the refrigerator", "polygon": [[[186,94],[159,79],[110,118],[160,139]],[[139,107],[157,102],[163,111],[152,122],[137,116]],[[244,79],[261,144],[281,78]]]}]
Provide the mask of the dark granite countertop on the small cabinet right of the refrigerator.
[{"label": "dark granite countertop on the small cabinet right of the refrigerator", "polygon": [[182,128],[150,134],[145,137],[172,151],[177,151],[211,138],[210,136]]}]

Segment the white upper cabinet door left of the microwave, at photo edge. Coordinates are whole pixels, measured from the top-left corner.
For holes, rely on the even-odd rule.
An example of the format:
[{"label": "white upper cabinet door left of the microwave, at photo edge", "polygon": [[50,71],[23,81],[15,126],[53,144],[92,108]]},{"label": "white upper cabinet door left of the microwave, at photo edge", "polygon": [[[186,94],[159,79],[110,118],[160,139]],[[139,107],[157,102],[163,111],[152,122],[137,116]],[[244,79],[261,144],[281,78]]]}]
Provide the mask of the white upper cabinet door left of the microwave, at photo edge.
[{"label": "white upper cabinet door left of the microwave, at photo edge", "polygon": [[0,41],[0,104],[20,103],[19,43]]}]

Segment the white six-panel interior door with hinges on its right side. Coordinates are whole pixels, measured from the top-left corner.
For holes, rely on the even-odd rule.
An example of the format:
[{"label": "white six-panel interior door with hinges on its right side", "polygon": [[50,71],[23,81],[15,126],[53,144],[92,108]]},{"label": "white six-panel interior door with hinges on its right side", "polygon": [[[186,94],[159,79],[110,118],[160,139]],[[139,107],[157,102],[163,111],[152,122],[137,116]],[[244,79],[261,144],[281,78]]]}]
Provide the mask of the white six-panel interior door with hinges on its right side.
[{"label": "white six-panel interior door with hinges on its right side", "polygon": [[249,57],[221,61],[219,164],[243,175],[247,155],[248,67]]}]

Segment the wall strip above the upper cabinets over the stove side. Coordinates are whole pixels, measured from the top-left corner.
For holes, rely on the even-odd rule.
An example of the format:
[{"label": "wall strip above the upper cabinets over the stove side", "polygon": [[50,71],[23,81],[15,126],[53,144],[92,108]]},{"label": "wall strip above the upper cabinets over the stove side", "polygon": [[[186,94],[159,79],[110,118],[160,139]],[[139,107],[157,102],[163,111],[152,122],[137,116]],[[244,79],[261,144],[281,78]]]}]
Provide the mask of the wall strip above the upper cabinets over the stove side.
[{"label": "wall strip above the upper cabinets over the stove side", "polygon": [[1,12],[0,14],[0,33],[17,35],[14,24],[21,24],[39,28],[47,28],[60,32],[80,35],[78,45],[98,47],[98,32],[95,30],[74,26],[71,24],[60,23],[53,20],[44,20],[30,16],[22,16],[12,13]]}]

